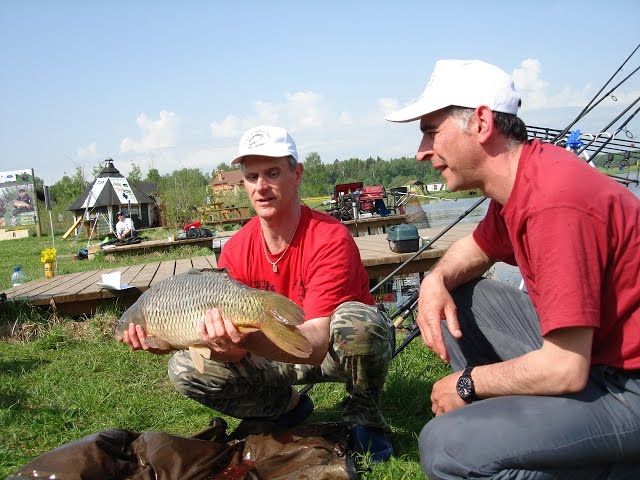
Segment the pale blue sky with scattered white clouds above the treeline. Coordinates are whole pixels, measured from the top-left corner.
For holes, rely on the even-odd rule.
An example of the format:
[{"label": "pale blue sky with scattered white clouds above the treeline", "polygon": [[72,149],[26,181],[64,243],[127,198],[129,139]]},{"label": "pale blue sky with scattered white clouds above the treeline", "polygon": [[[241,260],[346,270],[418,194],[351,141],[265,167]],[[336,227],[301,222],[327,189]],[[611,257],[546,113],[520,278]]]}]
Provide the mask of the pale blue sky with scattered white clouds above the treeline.
[{"label": "pale blue sky with scattered white clouds above the treeline", "polygon": [[[287,128],[301,159],[413,156],[418,124],[384,116],[445,58],[499,66],[519,116],[561,129],[638,46],[639,19],[637,0],[0,0],[0,171],[210,174],[257,125]],[[639,65],[640,50],[604,91]],[[639,95],[636,73],[574,128],[604,130]],[[640,115],[627,130],[640,141]]]}]

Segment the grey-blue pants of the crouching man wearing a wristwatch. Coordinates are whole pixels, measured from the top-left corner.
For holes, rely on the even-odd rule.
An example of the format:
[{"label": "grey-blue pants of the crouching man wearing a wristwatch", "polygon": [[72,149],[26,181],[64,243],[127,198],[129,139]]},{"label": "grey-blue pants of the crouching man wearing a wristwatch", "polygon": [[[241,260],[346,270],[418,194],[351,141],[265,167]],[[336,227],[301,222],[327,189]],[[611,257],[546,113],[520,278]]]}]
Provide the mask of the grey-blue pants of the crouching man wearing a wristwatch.
[{"label": "grey-blue pants of the crouching man wearing a wristwatch", "polygon": [[[482,279],[452,292],[463,338],[445,332],[454,371],[540,348],[528,295]],[[513,395],[435,417],[419,438],[430,480],[640,478],[640,372],[594,365],[579,393]]]}]

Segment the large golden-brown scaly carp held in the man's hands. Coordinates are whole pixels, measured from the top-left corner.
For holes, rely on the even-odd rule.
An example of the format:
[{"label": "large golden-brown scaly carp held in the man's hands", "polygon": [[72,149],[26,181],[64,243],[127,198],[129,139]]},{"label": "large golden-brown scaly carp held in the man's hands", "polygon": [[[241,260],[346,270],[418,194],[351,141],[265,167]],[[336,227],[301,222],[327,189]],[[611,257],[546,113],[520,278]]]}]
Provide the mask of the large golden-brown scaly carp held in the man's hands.
[{"label": "large golden-brown scaly carp held in the man's hands", "polygon": [[203,373],[203,358],[210,358],[211,350],[198,326],[214,307],[240,332],[261,330],[285,352],[299,358],[311,355],[311,344],[296,328],[304,321],[302,309],[283,295],[234,280],[225,269],[192,269],[152,286],[122,314],[115,338],[122,340],[130,323],[141,325],[149,347],[188,349]]}]

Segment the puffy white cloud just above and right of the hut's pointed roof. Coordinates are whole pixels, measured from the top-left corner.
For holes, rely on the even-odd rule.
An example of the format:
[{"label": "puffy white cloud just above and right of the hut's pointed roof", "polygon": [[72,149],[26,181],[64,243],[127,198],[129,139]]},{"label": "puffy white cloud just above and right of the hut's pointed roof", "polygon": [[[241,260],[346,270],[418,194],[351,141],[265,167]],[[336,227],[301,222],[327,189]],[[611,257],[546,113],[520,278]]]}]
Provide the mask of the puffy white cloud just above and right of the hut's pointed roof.
[{"label": "puffy white cloud just above and right of the hut's pointed roof", "polygon": [[152,120],[147,114],[141,113],[136,124],[142,130],[140,140],[125,138],[120,142],[120,152],[146,152],[158,148],[168,148],[176,145],[179,137],[180,117],[166,110],[160,112],[160,118]]}]

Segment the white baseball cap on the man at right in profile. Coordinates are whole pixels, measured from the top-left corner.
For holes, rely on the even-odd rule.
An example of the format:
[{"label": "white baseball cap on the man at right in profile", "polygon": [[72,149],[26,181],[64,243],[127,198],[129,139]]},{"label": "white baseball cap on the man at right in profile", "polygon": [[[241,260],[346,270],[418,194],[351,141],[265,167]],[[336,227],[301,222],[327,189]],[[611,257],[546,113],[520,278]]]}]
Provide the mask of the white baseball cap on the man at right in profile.
[{"label": "white baseball cap on the man at right in profile", "polygon": [[438,60],[417,102],[387,115],[390,122],[412,122],[451,105],[518,113],[520,95],[511,77],[481,60]]}]

